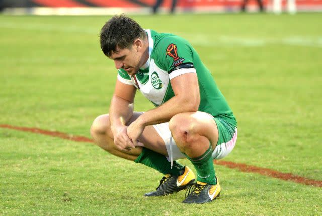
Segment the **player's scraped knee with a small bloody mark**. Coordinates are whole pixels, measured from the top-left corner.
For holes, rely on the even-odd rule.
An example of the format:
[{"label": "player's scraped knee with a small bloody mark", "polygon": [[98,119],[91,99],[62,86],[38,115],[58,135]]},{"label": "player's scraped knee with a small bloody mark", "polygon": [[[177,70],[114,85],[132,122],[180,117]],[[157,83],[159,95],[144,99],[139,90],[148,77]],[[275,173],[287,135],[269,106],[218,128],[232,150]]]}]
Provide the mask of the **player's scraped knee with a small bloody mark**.
[{"label": "player's scraped knee with a small bloody mark", "polygon": [[169,129],[177,145],[189,146],[196,139],[195,121],[189,113],[179,113],[169,121]]}]

